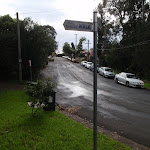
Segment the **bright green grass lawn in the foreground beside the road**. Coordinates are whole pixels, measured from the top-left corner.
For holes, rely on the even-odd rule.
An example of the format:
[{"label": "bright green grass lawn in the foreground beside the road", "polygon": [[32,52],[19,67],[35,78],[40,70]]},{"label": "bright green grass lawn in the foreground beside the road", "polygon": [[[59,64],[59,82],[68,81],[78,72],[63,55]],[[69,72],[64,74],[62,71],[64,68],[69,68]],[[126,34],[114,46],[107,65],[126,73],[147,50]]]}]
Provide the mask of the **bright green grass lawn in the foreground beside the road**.
[{"label": "bright green grass lawn in the foreground beside the road", "polygon": [[[24,91],[0,92],[0,149],[92,150],[93,131],[58,111],[40,110],[35,116]],[[98,150],[130,150],[98,134]]]}]

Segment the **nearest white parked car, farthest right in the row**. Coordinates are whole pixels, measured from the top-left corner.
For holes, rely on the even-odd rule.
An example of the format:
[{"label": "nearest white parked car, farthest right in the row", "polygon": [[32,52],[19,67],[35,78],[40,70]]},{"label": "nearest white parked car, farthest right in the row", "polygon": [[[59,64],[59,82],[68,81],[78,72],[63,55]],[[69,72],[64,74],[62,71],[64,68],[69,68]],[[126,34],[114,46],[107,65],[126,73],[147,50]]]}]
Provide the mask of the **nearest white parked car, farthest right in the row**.
[{"label": "nearest white parked car, farthest right in the row", "polygon": [[114,80],[116,83],[121,83],[126,86],[144,88],[144,82],[142,80],[138,79],[135,76],[135,74],[132,74],[132,73],[121,72],[119,74],[116,74]]}]

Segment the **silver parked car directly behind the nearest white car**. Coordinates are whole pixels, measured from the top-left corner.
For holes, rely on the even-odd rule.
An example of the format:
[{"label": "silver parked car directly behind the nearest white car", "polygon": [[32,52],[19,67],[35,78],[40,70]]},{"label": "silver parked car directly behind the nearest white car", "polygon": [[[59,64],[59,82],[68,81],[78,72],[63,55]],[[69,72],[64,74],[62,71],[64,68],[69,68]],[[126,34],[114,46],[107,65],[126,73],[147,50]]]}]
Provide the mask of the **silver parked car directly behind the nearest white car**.
[{"label": "silver parked car directly behind the nearest white car", "polygon": [[114,78],[115,73],[114,71],[109,67],[100,67],[98,70],[99,74],[104,77]]}]

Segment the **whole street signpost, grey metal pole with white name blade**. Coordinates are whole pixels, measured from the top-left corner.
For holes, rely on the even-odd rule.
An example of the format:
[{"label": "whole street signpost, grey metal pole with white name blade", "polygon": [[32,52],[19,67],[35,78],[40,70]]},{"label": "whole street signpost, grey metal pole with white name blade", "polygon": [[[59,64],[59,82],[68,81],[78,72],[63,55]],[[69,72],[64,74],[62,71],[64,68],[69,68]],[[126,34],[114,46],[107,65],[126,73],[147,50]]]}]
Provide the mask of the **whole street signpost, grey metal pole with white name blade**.
[{"label": "whole street signpost, grey metal pole with white name blade", "polygon": [[93,145],[94,150],[97,150],[97,12],[93,12],[93,23],[65,20],[64,22],[65,30],[76,30],[76,31],[86,31],[93,32],[94,41],[94,73],[93,73],[93,124],[94,124],[94,138]]}]

